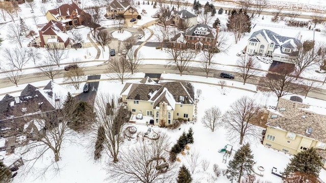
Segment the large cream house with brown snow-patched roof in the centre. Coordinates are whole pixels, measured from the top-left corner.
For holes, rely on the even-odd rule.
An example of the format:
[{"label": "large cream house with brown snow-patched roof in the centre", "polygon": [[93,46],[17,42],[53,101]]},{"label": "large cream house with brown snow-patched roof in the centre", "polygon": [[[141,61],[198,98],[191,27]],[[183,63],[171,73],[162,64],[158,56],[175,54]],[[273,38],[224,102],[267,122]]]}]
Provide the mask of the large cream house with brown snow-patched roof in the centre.
[{"label": "large cream house with brown snow-patched roof in the centre", "polygon": [[121,92],[132,114],[152,116],[154,125],[172,125],[173,119],[193,120],[194,91],[190,83],[156,83],[146,77],[139,83],[126,83]]}]

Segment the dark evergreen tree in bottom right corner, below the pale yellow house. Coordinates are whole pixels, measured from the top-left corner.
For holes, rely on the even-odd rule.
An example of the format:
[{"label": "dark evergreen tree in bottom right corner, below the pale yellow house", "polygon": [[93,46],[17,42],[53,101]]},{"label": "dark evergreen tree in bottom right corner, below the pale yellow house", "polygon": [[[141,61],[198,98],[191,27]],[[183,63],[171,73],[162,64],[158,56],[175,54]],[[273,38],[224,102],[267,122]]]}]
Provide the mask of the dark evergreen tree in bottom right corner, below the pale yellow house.
[{"label": "dark evergreen tree in bottom right corner, below the pale yellow house", "polygon": [[291,162],[287,164],[284,175],[288,176],[299,172],[318,177],[321,167],[319,155],[316,149],[312,147],[294,155]]}]

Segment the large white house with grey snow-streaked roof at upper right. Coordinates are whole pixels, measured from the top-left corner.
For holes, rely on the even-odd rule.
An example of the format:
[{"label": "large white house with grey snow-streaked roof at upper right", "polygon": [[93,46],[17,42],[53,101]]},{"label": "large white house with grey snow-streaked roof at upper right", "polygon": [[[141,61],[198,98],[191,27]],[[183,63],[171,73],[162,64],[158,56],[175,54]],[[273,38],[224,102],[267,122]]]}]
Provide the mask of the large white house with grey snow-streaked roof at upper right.
[{"label": "large white house with grey snow-streaked roof at upper right", "polygon": [[290,63],[297,56],[302,42],[296,38],[278,35],[267,29],[254,32],[248,39],[246,52],[272,56],[278,62]]}]

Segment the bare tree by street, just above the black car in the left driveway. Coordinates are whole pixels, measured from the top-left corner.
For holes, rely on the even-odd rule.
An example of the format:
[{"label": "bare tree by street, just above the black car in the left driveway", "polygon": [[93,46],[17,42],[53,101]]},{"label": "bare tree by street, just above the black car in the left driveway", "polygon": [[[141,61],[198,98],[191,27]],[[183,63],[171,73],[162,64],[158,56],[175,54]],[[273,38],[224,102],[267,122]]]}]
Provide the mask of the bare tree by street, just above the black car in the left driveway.
[{"label": "bare tree by street, just above the black car in the left driveway", "polygon": [[78,64],[80,60],[74,59],[73,61],[74,65],[77,65],[78,67],[65,72],[64,82],[70,83],[76,89],[79,89],[80,83],[86,80],[86,76],[84,73],[84,68],[80,67]]}]

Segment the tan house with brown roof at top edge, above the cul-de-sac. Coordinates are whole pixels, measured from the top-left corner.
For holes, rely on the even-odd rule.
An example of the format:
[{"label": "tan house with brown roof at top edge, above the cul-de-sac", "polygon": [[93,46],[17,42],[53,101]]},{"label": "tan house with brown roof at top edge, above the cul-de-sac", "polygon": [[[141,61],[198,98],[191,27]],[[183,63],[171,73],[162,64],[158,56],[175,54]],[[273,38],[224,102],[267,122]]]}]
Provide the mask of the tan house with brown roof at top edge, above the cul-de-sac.
[{"label": "tan house with brown roof at top edge, above the cul-de-sac", "polygon": [[128,2],[114,0],[107,5],[105,17],[115,18],[117,16],[123,16],[124,18],[137,18],[138,11]]}]

